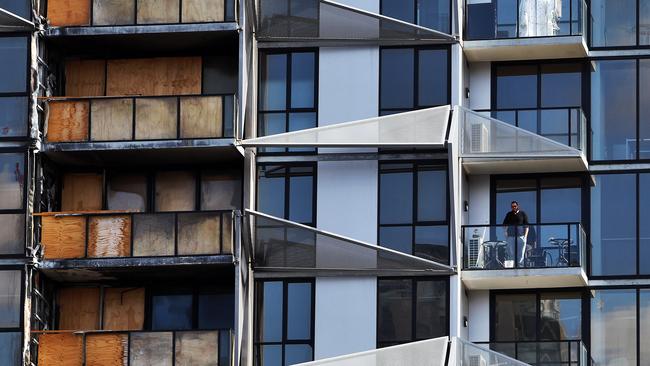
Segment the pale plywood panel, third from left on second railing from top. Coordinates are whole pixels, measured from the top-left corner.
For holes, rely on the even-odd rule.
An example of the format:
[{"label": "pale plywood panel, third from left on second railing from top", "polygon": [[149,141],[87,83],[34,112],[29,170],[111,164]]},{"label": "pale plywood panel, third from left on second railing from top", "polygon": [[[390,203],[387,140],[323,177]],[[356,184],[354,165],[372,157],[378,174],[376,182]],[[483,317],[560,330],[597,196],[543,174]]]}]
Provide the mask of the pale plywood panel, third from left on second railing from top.
[{"label": "pale plywood panel, third from left on second railing from top", "polygon": [[140,98],[135,101],[135,139],[175,139],[176,98]]}]

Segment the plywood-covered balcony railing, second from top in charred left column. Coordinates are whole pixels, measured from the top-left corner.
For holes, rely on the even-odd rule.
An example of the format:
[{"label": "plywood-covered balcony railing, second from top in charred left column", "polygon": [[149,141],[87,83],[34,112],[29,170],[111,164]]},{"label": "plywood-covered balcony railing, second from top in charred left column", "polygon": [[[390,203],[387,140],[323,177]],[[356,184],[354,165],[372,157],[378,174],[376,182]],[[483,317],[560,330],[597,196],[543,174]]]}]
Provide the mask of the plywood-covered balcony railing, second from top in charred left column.
[{"label": "plywood-covered balcony railing, second from top in charred left column", "polygon": [[52,98],[47,142],[232,138],[234,95]]}]

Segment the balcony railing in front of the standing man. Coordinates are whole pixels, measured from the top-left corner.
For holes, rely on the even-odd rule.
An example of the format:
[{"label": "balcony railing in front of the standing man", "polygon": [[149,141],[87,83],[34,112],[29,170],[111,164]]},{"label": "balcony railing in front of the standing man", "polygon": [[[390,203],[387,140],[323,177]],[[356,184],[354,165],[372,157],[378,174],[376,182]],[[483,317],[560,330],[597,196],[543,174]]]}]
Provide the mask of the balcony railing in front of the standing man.
[{"label": "balcony railing in front of the standing man", "polygon": [[466,225],[462,235],[465,270],[583,267],[586,258],[579,223]]}]

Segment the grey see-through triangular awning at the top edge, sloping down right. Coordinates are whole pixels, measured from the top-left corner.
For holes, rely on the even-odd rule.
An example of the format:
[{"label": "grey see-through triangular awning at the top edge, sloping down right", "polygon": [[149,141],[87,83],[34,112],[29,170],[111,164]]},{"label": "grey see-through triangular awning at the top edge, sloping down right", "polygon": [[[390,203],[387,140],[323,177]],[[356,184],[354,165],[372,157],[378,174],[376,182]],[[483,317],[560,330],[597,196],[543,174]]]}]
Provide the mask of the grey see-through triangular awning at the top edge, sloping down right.
[{"label": "grey see-through triangular awning at the top edge, sloping down right", "polygon": [[375,14],[330,0],[260,0],[260,42],[452,43],[455,38],[433,29]]}]

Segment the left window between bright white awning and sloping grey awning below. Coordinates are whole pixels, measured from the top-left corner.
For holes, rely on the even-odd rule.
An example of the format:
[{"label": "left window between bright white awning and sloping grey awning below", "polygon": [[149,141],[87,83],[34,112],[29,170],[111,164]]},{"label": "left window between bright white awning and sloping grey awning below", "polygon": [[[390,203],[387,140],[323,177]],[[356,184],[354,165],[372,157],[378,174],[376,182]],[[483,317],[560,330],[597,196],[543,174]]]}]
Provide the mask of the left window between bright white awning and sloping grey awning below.
[{"label": "left window between bright white awning and sloping grey awning below", "polygon": [[305,225],[316,225],[315,166],[260,165],[257,209]]}]

